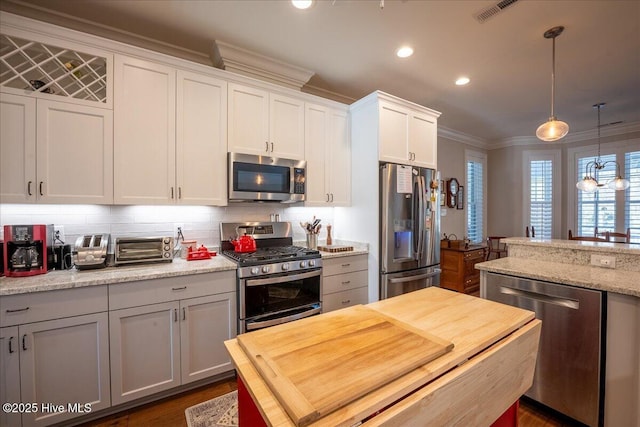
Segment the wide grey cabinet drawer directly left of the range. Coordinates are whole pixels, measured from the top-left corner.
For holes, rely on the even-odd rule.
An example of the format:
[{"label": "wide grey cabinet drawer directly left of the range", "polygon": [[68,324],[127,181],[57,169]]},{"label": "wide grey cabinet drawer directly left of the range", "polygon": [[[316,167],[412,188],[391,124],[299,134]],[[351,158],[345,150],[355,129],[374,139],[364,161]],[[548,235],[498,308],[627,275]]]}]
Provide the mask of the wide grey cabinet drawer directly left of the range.
[{"label": "wide grey cabinet drawer directly left of the range", "polygon": [[235,292],[235,270],[109,285],[109,309]]}]

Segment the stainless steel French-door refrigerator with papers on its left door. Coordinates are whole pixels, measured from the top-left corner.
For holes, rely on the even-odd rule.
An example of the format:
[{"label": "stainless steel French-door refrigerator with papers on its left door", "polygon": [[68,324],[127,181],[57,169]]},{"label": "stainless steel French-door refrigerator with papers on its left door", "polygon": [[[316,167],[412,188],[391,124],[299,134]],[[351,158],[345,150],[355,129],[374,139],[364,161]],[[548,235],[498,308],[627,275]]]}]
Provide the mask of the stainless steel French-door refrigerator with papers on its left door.
[{"label": "stainless steel French-door refrigerator with papers on its left door", "polygon": [[432,181],[432,169],[380,166],[381,299],[440,283],[440,205]]}]

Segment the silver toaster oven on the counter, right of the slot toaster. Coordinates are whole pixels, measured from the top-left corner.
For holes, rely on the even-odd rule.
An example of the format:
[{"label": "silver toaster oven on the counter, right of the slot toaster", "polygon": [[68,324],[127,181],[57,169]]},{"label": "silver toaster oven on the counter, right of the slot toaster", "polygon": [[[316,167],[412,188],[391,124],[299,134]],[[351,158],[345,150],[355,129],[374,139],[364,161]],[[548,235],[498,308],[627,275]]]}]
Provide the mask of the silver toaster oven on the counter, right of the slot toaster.
[{"label": "silver toaster oven on the counter, right of the slot toaster", "polygon": [[114,259],[116,265],[171,262],[173,237],[118,237]]}]

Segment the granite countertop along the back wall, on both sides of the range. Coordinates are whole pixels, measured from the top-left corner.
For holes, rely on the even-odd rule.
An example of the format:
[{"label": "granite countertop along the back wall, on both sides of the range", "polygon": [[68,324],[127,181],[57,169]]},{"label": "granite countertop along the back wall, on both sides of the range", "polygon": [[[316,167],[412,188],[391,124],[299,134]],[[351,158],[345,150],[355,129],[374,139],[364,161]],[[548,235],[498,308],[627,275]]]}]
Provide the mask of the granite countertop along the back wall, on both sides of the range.
[{"label": "granite countertop along the back wall, on both sides of the range", "polygon": [[[323,259],[362,255],[369,252],[368,245],[350,243],[353,251],[320,252]],[[235,270],[236,263],[218,254],[209,260],[186,261],[175,258],[170,263],[107,267],[96,270],[50,271],[30,277],[0,277],[0,296],[30,292],[54,291],[84,286],[109,285],[190,274],[214,273]]]}]

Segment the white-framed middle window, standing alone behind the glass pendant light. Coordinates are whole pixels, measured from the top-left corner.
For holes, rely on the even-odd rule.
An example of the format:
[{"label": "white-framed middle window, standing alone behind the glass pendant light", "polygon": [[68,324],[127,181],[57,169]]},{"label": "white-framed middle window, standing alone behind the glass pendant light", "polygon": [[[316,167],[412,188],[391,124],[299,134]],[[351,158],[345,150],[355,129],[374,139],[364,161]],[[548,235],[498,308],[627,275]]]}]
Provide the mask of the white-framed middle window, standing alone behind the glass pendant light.
[{"label": "white-framed middle window, standing alone behind the glass pendant light", "polygon": [[523,213],[525,227],[536,230],[536,238],[552,239],[560,233],[560,151],[523,153]]}]

